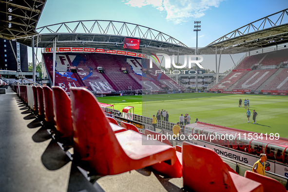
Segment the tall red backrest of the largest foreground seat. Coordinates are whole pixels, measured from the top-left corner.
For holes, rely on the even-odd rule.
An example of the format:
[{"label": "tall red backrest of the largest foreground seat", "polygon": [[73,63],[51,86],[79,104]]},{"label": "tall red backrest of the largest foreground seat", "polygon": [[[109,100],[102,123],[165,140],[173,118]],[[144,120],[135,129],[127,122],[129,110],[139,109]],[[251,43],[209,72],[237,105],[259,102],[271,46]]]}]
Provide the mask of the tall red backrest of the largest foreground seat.
[{"label": "tall red backrest of the largest foreground seat", "polygon": [[113,159],[123,158],[121,154],[125,153],[108,119],[97,104],[96,97],[87,89],[71,87],[70,96],[74,154],[82,160],[93,160],[98,165],[95,168],[97,173],[109,173]]}]

